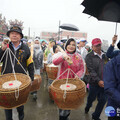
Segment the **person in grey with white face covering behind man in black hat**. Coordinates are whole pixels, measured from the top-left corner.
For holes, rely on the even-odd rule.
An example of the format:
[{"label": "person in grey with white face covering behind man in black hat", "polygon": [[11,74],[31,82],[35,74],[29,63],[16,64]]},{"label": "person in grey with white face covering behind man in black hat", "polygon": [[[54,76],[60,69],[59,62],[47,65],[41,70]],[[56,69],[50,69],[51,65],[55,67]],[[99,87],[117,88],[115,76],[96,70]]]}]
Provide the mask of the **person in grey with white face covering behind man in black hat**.
[{"label": "person in grey with white face covering behind man in black hat", "polygon": [[[43,69],[43,51],[40,48],[39,39],[34,40],[34,52],[33,52],[33,61],[34,61],[34,74],[40,75]],[[37,100],[37,91],[32,92],[33,100]]]}]

